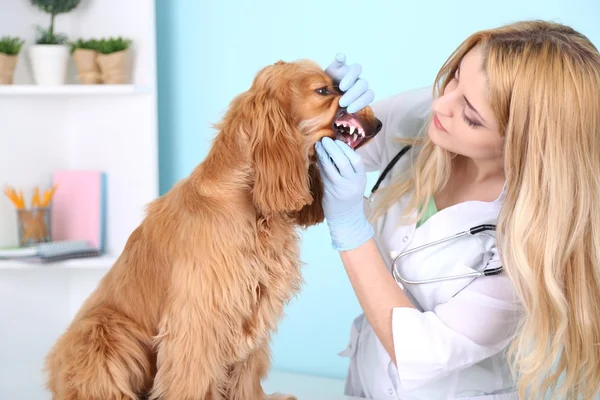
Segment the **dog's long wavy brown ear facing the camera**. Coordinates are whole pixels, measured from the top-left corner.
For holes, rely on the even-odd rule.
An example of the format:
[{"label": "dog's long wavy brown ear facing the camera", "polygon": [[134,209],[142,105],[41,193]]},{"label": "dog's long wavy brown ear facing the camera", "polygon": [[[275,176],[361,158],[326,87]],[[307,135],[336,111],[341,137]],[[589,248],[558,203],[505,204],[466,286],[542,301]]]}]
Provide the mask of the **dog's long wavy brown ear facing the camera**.
[{"label": "dog's long wavy brown ear facing the camera", "polygon": [[308,154],[291,115],[289,94],[278,87],[276,76],[263,78],[256,81],[259,93],[252,101],[249,132],[254,204],[264,215],[298,211],[312,201]]}]

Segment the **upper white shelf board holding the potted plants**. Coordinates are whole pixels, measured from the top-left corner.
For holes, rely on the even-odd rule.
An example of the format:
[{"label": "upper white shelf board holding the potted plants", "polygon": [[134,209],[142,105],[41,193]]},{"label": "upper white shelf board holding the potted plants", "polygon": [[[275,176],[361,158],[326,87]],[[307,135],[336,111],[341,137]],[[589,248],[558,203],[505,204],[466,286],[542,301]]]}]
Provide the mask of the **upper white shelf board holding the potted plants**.
[{"label": "upper white shelf board holding the potted plants", "polygon": [[151,93],[151,89],[136,85],[2,85],[0,96],[73,96],[73,95],[137,95]]}]

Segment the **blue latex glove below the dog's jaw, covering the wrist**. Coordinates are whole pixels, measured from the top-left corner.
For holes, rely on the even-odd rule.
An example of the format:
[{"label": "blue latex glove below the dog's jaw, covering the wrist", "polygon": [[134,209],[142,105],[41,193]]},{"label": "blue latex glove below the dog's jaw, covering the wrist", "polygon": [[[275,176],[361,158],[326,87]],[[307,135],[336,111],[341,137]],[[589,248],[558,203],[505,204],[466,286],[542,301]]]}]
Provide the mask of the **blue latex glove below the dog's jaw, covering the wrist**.
[{"label": "blue latex glove below the dog's jaw, covering the wrist", "polygon": [[315,150],[333,248],[355,249],[373,237],[373,228],[363,212],[367,175],[362,158],[346,143],[329,137],[317,142]]}]

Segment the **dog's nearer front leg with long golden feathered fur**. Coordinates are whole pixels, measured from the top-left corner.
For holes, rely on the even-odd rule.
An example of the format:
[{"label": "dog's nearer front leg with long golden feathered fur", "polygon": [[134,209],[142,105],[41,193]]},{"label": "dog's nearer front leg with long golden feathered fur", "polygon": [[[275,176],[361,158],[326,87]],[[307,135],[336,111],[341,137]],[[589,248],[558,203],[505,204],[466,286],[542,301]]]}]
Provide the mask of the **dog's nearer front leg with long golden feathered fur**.
[{"label": "dog's nearer front leg with long golden feathered fur", "polygon": [[231,329],[222,317],[224,311],[194,284],[193,271],[180,270],[155,338],[157,373],[148,400],[221,400],[219,387],[231,360],[227,354]]}]

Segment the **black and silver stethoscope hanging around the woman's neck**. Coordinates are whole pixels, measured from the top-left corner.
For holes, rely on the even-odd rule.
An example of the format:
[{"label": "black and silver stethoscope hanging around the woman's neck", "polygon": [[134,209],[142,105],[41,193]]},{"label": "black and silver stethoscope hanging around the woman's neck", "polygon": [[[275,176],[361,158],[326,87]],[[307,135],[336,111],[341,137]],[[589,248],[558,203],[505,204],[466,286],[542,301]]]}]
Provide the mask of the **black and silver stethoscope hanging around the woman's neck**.
[{"label": "black and silver stethoscope hanging around the woman's neck", "polygon": [[[369,204],[373,203],[373,195],[379,188],[379,185],[381,184],[381,182],[385,179],[386,175],[390,172],[390,170],[394,167],[394,165],[402,158],[402,156],[411,149],[411,147],[412,146],[410,146],[410,145],[404,146],[383,169],[383,171],[381,172],[381,175],[379,175],[379,178],[377,178],[375,185],[373,185],[373,188],[371,189],[370,196],[369,197],[365,196],[365,200]],[[457,274],[457,275],[450,275],[450,276],[443,276],[443,277],[438,277],[438,278],[430,278],[430,279],[422,279],[422,280],[410,280],[410,279],[405,279],[404,277],[402,277],[402,275],[400,275],[400,273],[396,269],[396,263],[398,262],[398,260],[400,260],[402,257],[407,256],[416,251],[430,248],[433,246],[437,246],[439,244],[446,243],[451,240],[461,238],[463,236],[468,236],[468,235],[472,236],[472,235],[480,234],[483,232],[491,232],[491,231],[495,231],[495,230],[496,230],[496,225],[492,225],[492,224],[477,225],[466,231],[455,233],[452,236],[438,239],[434,242],[426,243],[426,244],[414,247],[409,250],[405,250],[405,251],[401,252],[400,254],[398,254],[392,261],[392,265],[391,265],[392,276],[398,283],[405,283],[405,284],[410,284],[410,285],[422,285],[422,284],[426,284],[426,283],[445,282],[445,281],[450,281],[450,280],[454,280],[454,279],[479,278],[482,276],[500,275],[503,271],[502,266],[490,267],[490,268],[486,267],[482,271],[473,271],[473,272],[469,272],[469,273],[465,273],[465,274]]]}]

